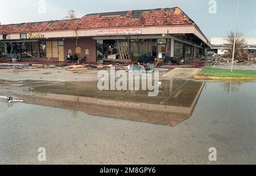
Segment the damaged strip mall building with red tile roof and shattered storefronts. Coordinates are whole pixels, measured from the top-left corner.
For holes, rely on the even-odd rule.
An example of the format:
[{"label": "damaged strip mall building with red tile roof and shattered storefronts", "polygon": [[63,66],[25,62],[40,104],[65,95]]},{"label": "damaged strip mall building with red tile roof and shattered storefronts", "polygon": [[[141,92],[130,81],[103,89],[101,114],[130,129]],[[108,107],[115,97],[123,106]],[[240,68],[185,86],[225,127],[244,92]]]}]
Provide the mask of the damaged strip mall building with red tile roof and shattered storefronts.
[{"label": "damaged strip mall building with red tile roof and shattered storefronts", "polygon": [[131,63],[143,58],[186,63],[209,47],[207,37],[179,7],[0,25],[2,53],[19,53],[22,61],[64,62],[71,53],[86,63]]}]

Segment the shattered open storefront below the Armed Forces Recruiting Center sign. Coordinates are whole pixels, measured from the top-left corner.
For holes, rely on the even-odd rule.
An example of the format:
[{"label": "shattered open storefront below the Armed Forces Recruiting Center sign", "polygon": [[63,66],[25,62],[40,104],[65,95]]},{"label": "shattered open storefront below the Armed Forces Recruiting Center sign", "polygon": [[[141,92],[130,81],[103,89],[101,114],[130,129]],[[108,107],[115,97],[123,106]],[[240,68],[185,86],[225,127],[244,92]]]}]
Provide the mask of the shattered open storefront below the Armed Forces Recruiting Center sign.
[{"label": "shattered open storefront below the Armed Forces Recruiting Center sign", "polygon": [[[118,31],[119,29],[113,29]],[[138,28],[137,31],[141,31]],[[97,62],[155,62],[155,58],[165,59],[166,63],[179,60],[179,63],[195,59],[204,54],[200,41],[190,35],[142,35],[126,33],[118,35],[104,33],[97,36]],[[108,36],[112,35],[112,36]],[[192,40],[195,40],[193,42]]]}]

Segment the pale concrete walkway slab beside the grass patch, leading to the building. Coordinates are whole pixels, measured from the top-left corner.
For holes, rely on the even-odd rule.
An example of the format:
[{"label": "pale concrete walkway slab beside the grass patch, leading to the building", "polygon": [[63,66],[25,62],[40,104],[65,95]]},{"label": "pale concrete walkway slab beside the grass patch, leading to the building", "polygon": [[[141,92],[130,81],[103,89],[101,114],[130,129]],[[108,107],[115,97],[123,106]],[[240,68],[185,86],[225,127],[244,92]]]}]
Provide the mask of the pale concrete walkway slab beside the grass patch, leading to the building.
[{"label": "pale concrete walkway slab beside the grass patch, leading to the building", "polygon": [[176,79],[186,79],[191,78],[197,72],[199,72],[200,68],[175,68],[162,75],[162,78],[176,78]]}]

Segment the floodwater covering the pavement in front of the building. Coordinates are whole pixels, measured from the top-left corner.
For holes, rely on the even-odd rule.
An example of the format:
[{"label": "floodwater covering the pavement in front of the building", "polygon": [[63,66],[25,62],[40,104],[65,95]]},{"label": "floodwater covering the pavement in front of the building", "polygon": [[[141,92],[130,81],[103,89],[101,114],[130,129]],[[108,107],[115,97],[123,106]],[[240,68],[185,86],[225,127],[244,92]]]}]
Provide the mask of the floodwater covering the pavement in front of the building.
[{"label": "floodwater covering the pavement in front of the building", "polygon": [[[256,82],[0,81],[0,164],[256,164]],[[38,149],[46,148],[46,161]],[[216,160],[209,149],[216,148]]]}]

